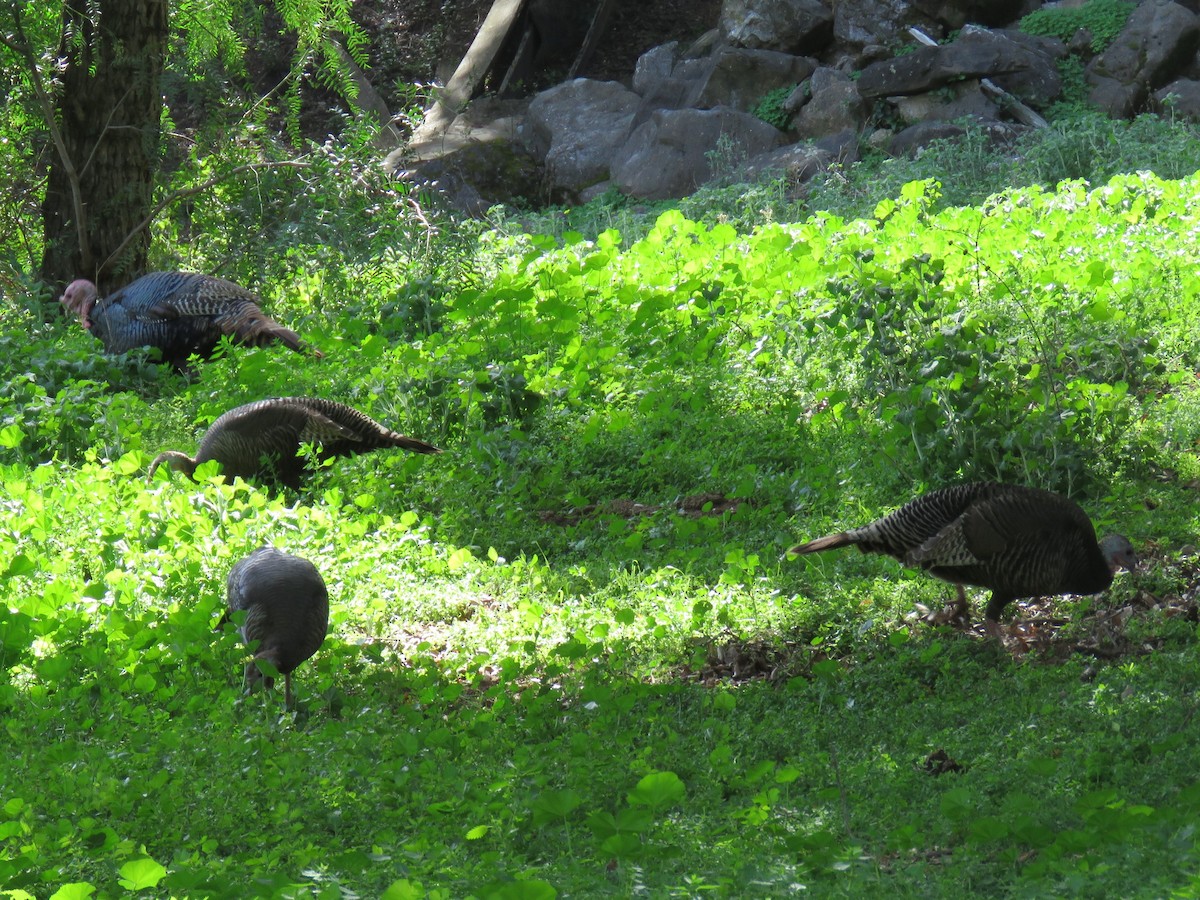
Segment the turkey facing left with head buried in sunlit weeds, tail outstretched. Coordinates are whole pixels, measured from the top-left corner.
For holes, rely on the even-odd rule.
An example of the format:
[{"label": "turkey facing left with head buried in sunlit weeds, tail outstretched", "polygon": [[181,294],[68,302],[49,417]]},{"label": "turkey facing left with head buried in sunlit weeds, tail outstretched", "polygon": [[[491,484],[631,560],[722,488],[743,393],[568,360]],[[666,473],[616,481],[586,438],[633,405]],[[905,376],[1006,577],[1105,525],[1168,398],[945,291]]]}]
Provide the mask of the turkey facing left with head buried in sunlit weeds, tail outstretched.
[{"label": "turkey facing left with head buried in sunlit weeds, tail outstretched", "polygon": [[163,462],[187,475],[202,462],[216,460],[226,478],[259,476],[288,487],[299,487],[305,458],[304,444],[314,444],[317,456],[353,456],[385,446],[418,454],[442,451],[384,427],[358,409],[330,400],[276,397],[230,409],[200,438],[200,449],[191,457],[179,450],[158,454],[150,464],[150,478]]}]

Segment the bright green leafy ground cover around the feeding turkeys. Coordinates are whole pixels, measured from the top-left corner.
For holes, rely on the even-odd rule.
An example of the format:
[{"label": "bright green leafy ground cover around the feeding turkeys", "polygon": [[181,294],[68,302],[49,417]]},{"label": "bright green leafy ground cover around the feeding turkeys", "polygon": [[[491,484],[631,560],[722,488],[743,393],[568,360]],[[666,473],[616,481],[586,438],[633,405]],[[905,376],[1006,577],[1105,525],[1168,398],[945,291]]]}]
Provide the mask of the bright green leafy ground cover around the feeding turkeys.
[{"label": "bright green leafy ground cover around the feeding turkeys", "polygon": [[[176,378],[4,295],[8,895],[1195,893],[1194,179],[426,254],[407,198],[332,184],[293,230],[323,266],[263,276],[324,360]],[[305,394],[446,452],[146,484]],[[893,560],[784,557],[974,478],[1069,492],[1142,571],[1000,642]],[[263,542],[331,594],[294,713],[214,630]]]}]

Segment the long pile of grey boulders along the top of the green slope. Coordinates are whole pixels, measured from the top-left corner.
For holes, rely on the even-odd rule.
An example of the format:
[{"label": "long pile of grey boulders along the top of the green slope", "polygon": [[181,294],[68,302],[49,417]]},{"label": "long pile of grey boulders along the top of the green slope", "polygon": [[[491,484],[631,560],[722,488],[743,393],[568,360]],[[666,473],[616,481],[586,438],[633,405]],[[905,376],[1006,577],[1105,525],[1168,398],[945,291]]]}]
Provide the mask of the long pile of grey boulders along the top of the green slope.
[{"label": "long pile of grey boulders along the top of the green slope", "polygon": [[[577,203],[611,188],[682,197],[738,167],[742,178],[773,172],[800,184],[859,146],[912,155],[968,122],[1004,138],[1044,125],[1038,110],[1062,97],[1068,54],[1086,65],[1090,100],[1110,115],[1169,107],[1200,120],[1200,16],[1144,0],[1097,54],[1086,29],[1066,41],[1021,29],[1025,16],[1058,6],[725,0],[712,31],[690,48],[652,48],[628,84],[575,78],[492,122],[476,101],[449,130],[452,140],[402,148],[388,166],[437,182],[472,212],[503,202],[505,185],[527,200]],[[492,143],[503,150],[479,146]],[[492,184],[480,174],[488,166],[502,173]]]}]

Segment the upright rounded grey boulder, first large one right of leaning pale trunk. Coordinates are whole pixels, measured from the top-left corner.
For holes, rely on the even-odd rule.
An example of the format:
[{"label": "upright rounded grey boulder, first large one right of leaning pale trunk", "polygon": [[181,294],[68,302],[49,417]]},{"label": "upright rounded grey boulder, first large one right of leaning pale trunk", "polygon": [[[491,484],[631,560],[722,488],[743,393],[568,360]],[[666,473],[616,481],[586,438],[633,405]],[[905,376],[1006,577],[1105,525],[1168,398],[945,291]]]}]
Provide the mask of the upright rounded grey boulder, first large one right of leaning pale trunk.
[{"label": "upright rounded grey boulder, first large one right of leaning pale trunk", "polygon": [[528,145],[553,187],[578,192],[608,178],[608,161],[625,143],[641,97],[617,82],[576,78],[529,103]]}]

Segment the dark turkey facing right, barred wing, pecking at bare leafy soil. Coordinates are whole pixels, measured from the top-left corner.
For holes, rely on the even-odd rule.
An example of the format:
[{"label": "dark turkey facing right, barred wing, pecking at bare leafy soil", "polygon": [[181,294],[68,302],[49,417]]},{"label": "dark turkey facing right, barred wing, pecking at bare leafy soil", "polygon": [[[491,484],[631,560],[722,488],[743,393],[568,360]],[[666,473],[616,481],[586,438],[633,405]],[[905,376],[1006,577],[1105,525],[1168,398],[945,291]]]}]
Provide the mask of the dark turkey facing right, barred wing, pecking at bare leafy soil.
[{"label": "dark turkey facing right, barred wing, pecking at bare leafy soil", "polygon": [[830,534],[788,553],[817,553],[854,545],[924,569],[958,589],[991,588],[985,619],[994,624],[1013,600],[1054,594],[1097,594],[1112,574],[1133,571],[1138,557],[1128,539],[1110,534],[1099,544],[1091,520],[1075,503],[1049,491],[979,482],[923,494],[877,522]]}]

